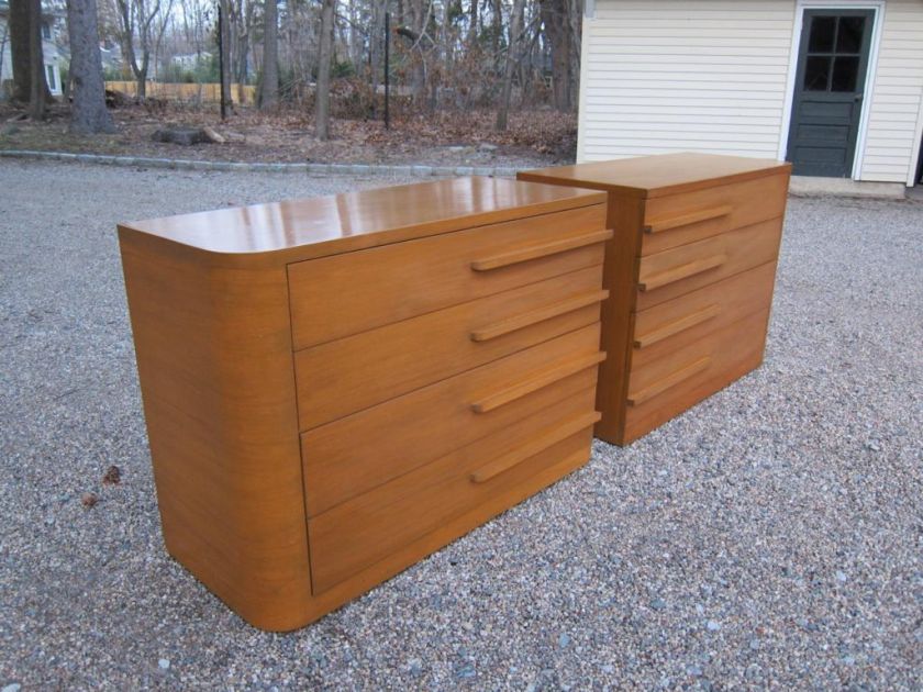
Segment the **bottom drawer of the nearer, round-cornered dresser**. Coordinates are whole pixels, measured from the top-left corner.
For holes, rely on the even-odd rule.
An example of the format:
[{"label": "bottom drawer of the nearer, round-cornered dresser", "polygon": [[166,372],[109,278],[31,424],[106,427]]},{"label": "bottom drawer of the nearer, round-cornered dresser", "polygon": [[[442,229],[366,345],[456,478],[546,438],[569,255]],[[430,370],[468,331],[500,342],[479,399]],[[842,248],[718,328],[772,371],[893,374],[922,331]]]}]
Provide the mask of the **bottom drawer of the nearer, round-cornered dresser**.
[{"label": "bottom drawer of the nearer, round-cornered dresser", "polygon": [[586,389],[309,520],[314,593],[574,455],[585,462],[594,398]]}]

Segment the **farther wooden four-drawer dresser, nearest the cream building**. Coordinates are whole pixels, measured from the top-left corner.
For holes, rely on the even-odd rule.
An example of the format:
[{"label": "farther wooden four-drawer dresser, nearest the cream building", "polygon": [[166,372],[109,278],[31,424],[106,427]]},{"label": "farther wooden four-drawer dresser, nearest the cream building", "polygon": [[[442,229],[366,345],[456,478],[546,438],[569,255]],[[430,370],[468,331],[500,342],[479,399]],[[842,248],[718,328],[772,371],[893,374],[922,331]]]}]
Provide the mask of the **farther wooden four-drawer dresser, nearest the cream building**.
[{"label": "farther wooden four-drawer dresser, nearest the cream building", "polygon": [[597,437],[637,439],[763,361],[789,171],[669,154],[519,174],[609,193]]}]

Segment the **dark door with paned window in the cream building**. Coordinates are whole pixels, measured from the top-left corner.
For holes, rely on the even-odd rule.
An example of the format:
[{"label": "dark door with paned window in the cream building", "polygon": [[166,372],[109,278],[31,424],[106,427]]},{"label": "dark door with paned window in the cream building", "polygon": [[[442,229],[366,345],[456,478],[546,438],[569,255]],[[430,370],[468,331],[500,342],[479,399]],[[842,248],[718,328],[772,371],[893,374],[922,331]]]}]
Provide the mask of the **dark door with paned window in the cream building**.
[{"label": "dark door with paned window in the cream building", "polygon": [[786,156],[796,176],[852,174],[874,20],[871,10],[804,12]]}]

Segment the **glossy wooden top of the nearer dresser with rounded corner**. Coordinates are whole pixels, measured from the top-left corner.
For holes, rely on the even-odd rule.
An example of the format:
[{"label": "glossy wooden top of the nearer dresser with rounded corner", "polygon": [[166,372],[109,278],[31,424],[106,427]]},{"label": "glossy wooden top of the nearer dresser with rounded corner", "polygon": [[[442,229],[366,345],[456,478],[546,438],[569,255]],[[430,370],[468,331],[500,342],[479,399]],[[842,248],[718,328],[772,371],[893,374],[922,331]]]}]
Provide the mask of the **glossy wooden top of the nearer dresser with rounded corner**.
[{"label": "glossy wooden top of the nearer dresser with rounded corner", "polygon": [[136,221],[119,231],[248,264],[254,255],[309,259],[604,202],[591,190],[469,177]]}]

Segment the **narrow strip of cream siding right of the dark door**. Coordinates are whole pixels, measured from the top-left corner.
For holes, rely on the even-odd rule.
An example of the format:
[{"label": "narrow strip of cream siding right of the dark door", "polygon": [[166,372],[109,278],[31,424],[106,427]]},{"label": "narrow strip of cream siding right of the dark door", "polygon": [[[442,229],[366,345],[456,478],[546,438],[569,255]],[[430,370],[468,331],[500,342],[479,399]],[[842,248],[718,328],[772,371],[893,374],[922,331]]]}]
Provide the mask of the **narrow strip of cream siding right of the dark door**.
[{"label": "narrow strip of cream siding right of the dark door", "polygon": [[860,178],[909,183],[923,109],[923,1],[888,0]]}]

